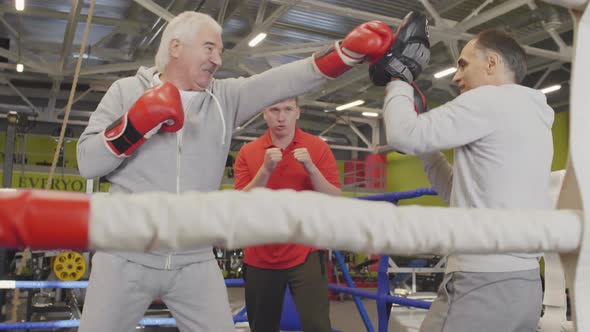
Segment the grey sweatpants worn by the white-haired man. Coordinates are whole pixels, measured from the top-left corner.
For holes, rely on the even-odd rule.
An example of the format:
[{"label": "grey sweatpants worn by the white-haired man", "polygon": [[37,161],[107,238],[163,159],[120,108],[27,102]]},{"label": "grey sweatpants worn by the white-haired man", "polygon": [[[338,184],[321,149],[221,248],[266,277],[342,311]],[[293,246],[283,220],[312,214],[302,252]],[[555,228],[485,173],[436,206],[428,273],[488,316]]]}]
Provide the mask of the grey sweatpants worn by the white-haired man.
[{"label": "grey sweatpants worn by the white-haired man", "polygon": [[78,331],[135,331],[157,297],[166,303],[181,332],[235,331],[215,260],[160,270],[104,252],[92,259]]}]

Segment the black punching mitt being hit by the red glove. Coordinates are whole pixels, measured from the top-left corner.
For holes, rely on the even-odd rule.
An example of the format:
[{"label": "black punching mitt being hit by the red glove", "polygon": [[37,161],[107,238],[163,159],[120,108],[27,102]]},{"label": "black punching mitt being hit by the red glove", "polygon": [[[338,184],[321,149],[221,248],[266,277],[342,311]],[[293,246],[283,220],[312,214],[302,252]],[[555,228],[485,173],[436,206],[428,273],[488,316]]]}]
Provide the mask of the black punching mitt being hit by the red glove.
[{"label": "black punching mitt being hit by the red glove", "polygon": [[428,19],[410,12],[400,24],[395,42],[379,61],[369,67],[373,84],[385,86],[393,77],[411,83],[430,61]]}]

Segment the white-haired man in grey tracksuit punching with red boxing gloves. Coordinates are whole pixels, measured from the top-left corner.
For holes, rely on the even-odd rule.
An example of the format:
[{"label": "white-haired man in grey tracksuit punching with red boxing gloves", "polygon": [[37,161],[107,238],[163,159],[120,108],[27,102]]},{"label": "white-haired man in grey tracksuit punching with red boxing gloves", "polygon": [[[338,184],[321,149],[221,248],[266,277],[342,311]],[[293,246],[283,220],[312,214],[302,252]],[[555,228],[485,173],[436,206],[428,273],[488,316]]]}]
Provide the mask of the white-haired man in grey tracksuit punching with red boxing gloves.
[{"label": "white-haired man in grey tracksuit punching with red boxing gloves", "polygon": [[[207,15],[182,13],[162,35],[156,68],[140,68],[106,92],[78,142],[80,173],[106,176],[111,192],[218,190],[233,128],[355,64],[374,63],[391,46],[392,35],[382,22],[364,23],[313,57],[250,78],[214,80],[221,66],[221,27]],[[234,330],[211,247],[97,252],[92,263],[82,332],[134,331],[156,297],[180,331]]]}]

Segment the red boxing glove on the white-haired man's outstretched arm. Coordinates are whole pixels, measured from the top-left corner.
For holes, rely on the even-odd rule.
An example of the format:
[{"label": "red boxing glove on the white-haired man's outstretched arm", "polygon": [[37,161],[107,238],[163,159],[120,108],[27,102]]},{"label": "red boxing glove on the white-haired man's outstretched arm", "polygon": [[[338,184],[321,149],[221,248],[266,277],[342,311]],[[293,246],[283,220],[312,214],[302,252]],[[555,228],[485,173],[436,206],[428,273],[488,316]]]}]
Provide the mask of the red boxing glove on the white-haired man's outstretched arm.
[{"label": "red boxing glove on the white-haired man's outstretched arm", "polygon": [[342,42],[314,54],[314,63],[324,76],[336,78],[363,61],[377,62],[392,42],[393,32],[387,24],[366,22],[355,27]]}]

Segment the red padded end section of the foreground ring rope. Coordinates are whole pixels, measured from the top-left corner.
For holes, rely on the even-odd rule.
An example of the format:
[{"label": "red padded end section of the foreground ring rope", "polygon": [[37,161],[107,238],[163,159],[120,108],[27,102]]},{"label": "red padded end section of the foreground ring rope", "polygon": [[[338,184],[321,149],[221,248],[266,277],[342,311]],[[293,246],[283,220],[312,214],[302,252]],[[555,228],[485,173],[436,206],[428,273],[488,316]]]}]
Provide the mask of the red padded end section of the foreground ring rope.
[{"label": "red padded end section of the foreground ring rope", "polygon": [[89,197],[49,191],[0,192],[0,247],[88,249]]}]

